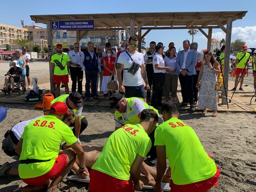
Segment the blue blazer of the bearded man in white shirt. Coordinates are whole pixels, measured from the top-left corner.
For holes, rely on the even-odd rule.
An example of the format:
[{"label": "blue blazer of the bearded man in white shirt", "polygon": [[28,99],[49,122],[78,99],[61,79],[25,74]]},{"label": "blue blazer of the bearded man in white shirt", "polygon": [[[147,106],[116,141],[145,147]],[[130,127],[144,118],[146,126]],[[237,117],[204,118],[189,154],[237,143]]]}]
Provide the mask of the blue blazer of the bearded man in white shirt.
[{"label": "blue blazer of the bearded man in white shirt", "polygon": [[[184,61],[184,50],[181,50],[178,52],[178,56],[176,59],[176,71],[175,74],[179,75],[180,70],[182,70],[182,64]],[[186,63],[185,63],[185,69],[188,70],[187,75],[196,75],[196,62],[197,62],[197,52],[192,49],[188,49],[188,55],[186,58]]]}]

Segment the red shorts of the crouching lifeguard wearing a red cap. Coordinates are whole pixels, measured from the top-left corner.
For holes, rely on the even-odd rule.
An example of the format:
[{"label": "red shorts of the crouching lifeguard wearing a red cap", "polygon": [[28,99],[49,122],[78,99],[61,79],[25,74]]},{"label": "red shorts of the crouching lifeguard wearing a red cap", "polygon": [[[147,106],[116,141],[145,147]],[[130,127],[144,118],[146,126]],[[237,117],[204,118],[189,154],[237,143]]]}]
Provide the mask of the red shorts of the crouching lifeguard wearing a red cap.
[{"label": "red shorts of the crouching lifeguard wearing a red cap", "polygon": [[61,153],[55,159],[55,163],[52,169],[48,173],[38,177],[33,177],[33,178],[25,178],[25,179],[22,178],[21,180],[27,183],[28,185],[42,186],[50,178],[57,177],[63,172],[63,170],[68,165],[68,161],[66,161],[67,157],[68,156],[66,154]]}]

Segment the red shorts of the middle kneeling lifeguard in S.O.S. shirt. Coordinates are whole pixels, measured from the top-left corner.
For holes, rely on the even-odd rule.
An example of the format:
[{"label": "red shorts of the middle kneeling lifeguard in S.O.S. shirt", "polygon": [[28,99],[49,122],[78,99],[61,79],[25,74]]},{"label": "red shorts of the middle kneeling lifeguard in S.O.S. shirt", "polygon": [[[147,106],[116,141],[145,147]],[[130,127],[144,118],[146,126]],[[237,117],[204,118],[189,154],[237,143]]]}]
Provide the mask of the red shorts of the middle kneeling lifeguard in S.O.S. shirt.
[{"label": "red shorts of the middle kneeling lifeguard in S.O.S. shirt", "polygon": [[132,179],[120,180],[94,169],[90,172],[89,189],[91,192],[134,192]]}]

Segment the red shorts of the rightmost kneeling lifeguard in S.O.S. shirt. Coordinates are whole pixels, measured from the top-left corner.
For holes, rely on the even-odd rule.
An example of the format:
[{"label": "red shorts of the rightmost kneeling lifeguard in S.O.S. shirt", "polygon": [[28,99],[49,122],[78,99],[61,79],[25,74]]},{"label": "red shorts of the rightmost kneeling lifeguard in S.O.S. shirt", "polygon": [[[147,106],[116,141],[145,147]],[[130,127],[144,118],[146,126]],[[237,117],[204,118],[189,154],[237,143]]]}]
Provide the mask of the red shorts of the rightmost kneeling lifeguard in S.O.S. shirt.
[{"label": "red shorts of the rightmost kneeling lifeguard in S.O.S. shirt", "polygon": [[[212,159],[210,154],[208,154],[208,156]],[[180,192],[180,191],[183,191],[183,192],[191,192],[191,191],[206,192],[213,186],[217,187],[220,170],[217,166],[216,166],[216,168],[217,168],[216,174],[214,176],[212,176],[211,178],[208,178],[207,180],[198,181],[198,182],[190,183],[187,185],[176,185],[172,182],[172,180],[170,180],[170,187],[171,187],[170,192]]]}]

